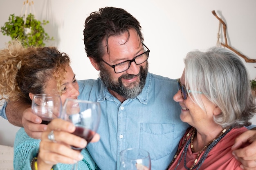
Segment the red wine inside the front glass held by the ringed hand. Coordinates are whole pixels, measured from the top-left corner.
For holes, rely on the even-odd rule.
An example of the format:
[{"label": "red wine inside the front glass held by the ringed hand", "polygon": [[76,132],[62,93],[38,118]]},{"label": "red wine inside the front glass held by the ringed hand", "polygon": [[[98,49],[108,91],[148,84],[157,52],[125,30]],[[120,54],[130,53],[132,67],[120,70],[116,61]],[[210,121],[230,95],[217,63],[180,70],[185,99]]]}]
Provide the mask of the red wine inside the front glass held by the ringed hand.
[{"label": "red wine inside the front glass held by the ringed hand", "polygon": [[[85,139],[87,143],[89,143],[92,140],[95,132],[82,126],[76,126],[76,130],[73,132],[73,134]],[[81,151],[83,148],[77,148],[72,146],[72,149]]]}]

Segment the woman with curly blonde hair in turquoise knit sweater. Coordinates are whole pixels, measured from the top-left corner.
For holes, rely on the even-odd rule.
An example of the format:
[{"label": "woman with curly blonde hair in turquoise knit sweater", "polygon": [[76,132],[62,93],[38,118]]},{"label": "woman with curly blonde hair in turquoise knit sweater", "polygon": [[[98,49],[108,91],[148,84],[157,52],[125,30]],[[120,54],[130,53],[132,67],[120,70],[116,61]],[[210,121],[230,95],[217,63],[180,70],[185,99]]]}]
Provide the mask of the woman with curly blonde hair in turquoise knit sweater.
[{"label": "woman with curly blonde hair in turquoise knit sweater", "polygon": [[[56,47],[32,46],[24,48],[19,41],[13,40],[7,49],[0,50],[1,99],[7,101],[22,99],[22,101],[26,102],[25,104],[31,104],[33,96],[40,93],[58,94],[61,96],[62,103],[64,103],[66,98],[77,98],[79,95],[79,85],[70,67],[70,58],[66,53],[59,52]],[[17,117],[17,119],[21,118]],[[63,127],[63,124],[68,125],[68,123],[61,119],[54,119],[45,126],[49,128],[49,126],[61,124]],[[66,138],[74,139],[76,142],[80,141],[83,147],[87,144],[84,139],[71,134],[72,131],[70,130],[63,130],[63,133],[65,133]],[[58,134],[54,135],[56,138],[58,137]],[[45,146],[49,141],[33,139],[27,135],[24,128],[20,128],[16,133],[14,141],[14,170],[34,169],[34,164],[31,164],[34,163],[32,161],[33,158],[36,157],[38,152],[44,151],[39,146]],[[72,151],[70,159],[78,161],[83,158],[87,162],[80,161],[79,168],[88,170],[90,169],[88,164],[91,168],[97,167],[87,149],[83,149],[81,154],[75,150]],[[52,155],[54,156],[56,153],[47,153],[47,157]],[[72,164],[66,164],[70,163],[68,161],[63,160],[59,162],[61,163],[54,165],[57,169],[70,170],[72,167]]]}]

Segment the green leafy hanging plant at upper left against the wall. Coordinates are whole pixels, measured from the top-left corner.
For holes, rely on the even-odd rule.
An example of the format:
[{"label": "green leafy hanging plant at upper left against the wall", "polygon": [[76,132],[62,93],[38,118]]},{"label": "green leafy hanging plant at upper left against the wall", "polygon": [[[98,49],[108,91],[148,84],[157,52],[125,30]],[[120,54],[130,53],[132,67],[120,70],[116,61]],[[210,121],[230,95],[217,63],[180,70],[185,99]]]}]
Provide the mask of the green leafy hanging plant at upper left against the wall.
[{"label": "green leafy hanging plant at upper left against the wall", "polygon": [[49,21],[36,20],[31,13],[27,15],[25,23],[24,15],[19,17],[11,14],[8,22],[1,26],[1,32],[3,35],[10,36],[12,40],[20,40],[24,46],[45,46],[45,41],[53,40],[53,37],[50,38],[43,28],[47,23]]}]

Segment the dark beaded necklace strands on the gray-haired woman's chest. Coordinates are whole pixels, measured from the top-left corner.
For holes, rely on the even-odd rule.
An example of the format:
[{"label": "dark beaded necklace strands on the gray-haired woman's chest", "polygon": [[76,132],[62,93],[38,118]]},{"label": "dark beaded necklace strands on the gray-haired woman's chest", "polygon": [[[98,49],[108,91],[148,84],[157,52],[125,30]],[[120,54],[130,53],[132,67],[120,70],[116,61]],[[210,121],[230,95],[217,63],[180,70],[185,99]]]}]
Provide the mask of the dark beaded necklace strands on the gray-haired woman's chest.
[{"label": "dark beaded necklace strands on the gray-haired woman's chest", "polygon": [[[201,167],[202,163],[204,162],[204,160],[206,159],[207,155],[209,154],[209,152],[211,151],[211,149],[232,129],[232,127],[230,127],[228,130],[226,129],[223,129],[222,132],[218,135],[217,139],[213,139],[211,142],[209,142],[206,146],[204,146],[204,148],[202,148],[202,150],[200,150],[200,152],[198,152],[198,155],[193,163],[193,165],[188,168],[186,166],[186,154],[187,154],[187,151],[188,151],[188,148],[189,148],[189,144],[190,144],[190,147],[191,147],[191,150],[192,152],[194,152],[194,148],[193,148],[193,139],[194,139],[194,136],[195,136],[195,132],[196,132],[196,129],[195,128],[191,128],[191,130],[189,130],[189,132],[187,133],[186,135],[186,138],[184,139],[184,141],[182,142],[182,145],[180,146],[180,148],[178,149],[177,153],[175,154],[173,160],[171,161],[170,165],[168,166],[168,168],[170,168],[170,166],[172,165],[172,163],[175,161],[175,159],[177,158],[177,156],[180,154],[180,151],[182,150],[182,148],[184,147],[184,144],[186,143],[186,146],[182,152],[182,155],[177,163],[177,166],[175,167],[175,170],[177,169],[177,167],[180,165],[180,162],[182,160],[182,157],[184,155],[184,168],[186,168],[187,170],[192,170],[192,169],[195,169],[197,168],[197,170]],[[192,132],[192,135],[190,137],[189,140],[188,137],[189,135],[191,134]],[[187,142],[186,142],[187,141]],[[204,154],[202,155],[202,157],[200,158],[200,160],[198,161],[198,158],[200,157],[201,153],[204,152]],[[198,164],[196,165],[196,163],[198,162]],[[167,169],[168,169],[167,168]]]}]

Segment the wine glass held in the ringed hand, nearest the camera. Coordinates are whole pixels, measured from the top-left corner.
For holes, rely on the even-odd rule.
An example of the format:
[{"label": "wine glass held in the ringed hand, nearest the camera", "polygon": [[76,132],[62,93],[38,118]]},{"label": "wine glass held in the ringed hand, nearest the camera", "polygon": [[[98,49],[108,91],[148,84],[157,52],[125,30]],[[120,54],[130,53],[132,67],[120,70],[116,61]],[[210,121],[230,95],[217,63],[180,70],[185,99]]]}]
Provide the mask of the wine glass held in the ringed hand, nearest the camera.
[{"label": "wine glass held in the ringed hand, nearest the camera", "polygon": [[[84,138],[88,143],[97,132],[101,116],[101,108],[98,102],[79,99],[66,99],[63,105],[62,119],[72,122],[76,126],[74,135]],[[71,146],[74,150],[81,151],[83,148]],[[72,170],[76,170],[75,163]]]}]

